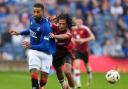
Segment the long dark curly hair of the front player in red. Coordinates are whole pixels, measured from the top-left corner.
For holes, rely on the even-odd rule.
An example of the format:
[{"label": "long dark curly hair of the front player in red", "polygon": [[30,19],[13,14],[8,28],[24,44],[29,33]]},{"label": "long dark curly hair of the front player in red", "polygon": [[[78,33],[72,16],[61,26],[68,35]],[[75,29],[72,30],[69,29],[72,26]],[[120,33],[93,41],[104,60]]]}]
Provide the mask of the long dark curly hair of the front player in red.
[{"label": "long dark curly hair of the front player in red", "polygon": [[57,21],[60,20],[60,19],[66,20],[67,27],[69,29],[71,29],[71,27],[72,27],[72,18],[69,14],[60,14],[57,18]]}]

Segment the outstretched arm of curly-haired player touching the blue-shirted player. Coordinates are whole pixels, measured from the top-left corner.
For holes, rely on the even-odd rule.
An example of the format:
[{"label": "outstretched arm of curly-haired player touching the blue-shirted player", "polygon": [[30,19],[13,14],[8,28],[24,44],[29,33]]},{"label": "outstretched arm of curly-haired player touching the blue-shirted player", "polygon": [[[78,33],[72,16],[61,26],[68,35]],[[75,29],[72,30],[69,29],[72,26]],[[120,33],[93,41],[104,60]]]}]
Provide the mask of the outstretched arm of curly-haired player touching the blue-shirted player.
[{"label": "outstretched arm of curly-haired player touching the blue-shirted player", "polygon": [[71,38],[71,34],[70,33],[65,33],[65,34],[54,35],[53,33],[50,33],[50,37],[58,39],[58,40],[64,40],[64,39]]}]

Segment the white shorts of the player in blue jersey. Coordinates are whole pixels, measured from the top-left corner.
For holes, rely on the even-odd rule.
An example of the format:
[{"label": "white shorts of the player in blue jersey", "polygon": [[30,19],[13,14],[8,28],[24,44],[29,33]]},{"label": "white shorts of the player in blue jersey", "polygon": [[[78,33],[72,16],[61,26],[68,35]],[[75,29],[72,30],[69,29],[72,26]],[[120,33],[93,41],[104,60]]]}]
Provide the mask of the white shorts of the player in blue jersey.
[{"label": "white shorts of the player in blue jersey", "polygon": [[29,70],[36,68],[37,70],[49,73],[52,66],[52,55],[37,50],[28,50]]}]

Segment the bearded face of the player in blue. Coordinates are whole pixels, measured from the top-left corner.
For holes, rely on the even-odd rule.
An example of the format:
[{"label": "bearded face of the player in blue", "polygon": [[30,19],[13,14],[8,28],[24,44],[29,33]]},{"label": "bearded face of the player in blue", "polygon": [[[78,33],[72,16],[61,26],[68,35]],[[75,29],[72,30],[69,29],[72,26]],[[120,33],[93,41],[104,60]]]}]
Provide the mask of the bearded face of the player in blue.
[{"label": "bearded face of the player in blue", "polygon": [[37,20],[37,21],[41,20],[43,17],[43,10],[41,8],[34,7],[32,14],[33,14],[35,20]]}]

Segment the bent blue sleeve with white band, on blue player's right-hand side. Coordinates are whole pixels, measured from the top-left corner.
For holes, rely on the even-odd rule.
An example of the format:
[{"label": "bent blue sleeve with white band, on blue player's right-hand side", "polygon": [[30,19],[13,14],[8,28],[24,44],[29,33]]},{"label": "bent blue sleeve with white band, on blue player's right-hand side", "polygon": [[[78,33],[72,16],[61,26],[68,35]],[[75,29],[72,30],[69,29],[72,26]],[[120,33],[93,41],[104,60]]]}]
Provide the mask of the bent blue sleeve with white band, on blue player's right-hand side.
[{"label": "bent blue sleeve with white band, on blue player's right-hand side", "polygon": [[49,33],[51,33],[51,27],[50,24],[45,24],[43,32],[42,32],[42,37],[41,37],[41,43],[38,45],[30,45],[31,49],[34,50],[48,50],[50,48],[50,38],[49,38]]}]

